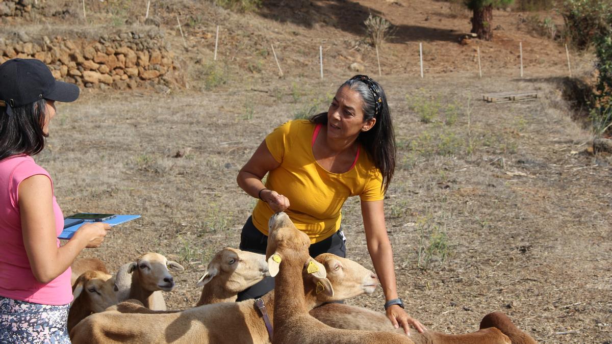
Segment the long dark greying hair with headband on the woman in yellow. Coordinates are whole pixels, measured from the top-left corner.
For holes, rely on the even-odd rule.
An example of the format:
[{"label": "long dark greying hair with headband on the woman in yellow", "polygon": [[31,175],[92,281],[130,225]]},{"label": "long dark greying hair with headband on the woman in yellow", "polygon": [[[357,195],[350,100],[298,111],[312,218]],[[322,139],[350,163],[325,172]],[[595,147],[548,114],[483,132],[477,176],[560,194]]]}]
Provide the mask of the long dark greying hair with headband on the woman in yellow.
[{"label": "long dark greying hair with headband on the woman in yellow", "polygon": [[[383,175],[383,192],[387,191],[395,172],[395,132],[391,120],[391,110],[387,105],[387,96],[379,83],[365,75],[356,75],[338,89],[348,86],[357,91],[364,103],[364,122],[376,118],[376,124],[367,132],[360,132],[357,136],[359,143],[364,146],[374,165]],[[327,124],[327,113],[319,113],[309,118],[316,124]]]}]

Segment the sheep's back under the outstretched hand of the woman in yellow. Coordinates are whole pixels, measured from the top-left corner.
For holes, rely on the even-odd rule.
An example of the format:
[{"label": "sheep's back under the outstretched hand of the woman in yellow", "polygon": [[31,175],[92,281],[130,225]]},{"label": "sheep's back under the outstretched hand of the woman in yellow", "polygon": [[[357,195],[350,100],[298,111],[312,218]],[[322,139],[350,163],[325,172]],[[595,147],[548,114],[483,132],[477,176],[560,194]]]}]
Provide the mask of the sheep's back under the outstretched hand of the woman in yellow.
[{"label": "sheep's back under the outstretched hand of the woman in yellow", "polygon": [[[383,313],[374,312],[373,310],[363,307],[345,304],[324,304],[313,308],[309,313],[317,320],[337,329],[404,333],[404,330],[401,328],[395,329],[391,325],[389,318]],[[491,327],[460,335],[442,334],[427,330],[424,333],[411,333],[410,339],[416,344],[509,344],[510,341],[506,335],[496,330],[498,329]]]}]

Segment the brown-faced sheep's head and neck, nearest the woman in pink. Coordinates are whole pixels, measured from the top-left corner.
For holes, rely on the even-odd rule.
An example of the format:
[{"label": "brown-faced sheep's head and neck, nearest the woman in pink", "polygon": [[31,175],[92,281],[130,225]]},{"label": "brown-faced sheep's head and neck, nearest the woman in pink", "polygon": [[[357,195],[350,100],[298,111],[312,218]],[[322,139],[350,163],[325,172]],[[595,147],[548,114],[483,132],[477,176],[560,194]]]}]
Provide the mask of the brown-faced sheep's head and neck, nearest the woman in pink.
[{"label": "brown-faced sheep's head and neck, nearest the woman in pink", "polygon": [[91,313],[102,312],[118,302],[114,277],[106,272],[83,272],[72,287],[73,301],[68,313],[68,331]]}]

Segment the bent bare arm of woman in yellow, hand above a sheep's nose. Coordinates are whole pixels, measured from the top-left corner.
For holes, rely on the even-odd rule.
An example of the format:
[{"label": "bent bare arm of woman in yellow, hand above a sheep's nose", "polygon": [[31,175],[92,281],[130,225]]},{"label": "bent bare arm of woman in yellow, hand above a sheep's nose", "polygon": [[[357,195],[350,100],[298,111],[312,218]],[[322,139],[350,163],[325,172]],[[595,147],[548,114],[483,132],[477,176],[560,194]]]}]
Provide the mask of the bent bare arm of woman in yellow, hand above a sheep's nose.
[{"label": "bent bare arm of woman in yellow, hand above a sheep's nose", "polygon": [[[280,166],[280,162],[274,160],[264,140],[259,144],[251,159],[238,172],[238,177],[236,178],[238,186],[249,195],[258,198],[259,191],[266,188],[261,179],[264,178],[268,171],[272,171],[278,166]],[[274,190],[263,190],[261,192],[261,199],[267,202],[274,212],[284,211],[289,208],[289,200]]]}]

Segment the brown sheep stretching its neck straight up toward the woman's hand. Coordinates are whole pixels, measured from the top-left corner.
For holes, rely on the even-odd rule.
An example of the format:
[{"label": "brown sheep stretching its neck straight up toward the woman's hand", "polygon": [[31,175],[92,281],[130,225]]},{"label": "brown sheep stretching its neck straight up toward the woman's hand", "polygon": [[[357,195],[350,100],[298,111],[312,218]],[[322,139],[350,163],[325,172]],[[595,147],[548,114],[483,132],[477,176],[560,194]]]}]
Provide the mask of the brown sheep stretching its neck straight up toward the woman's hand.
[{"label": "brown sheep stretching its neck straight up toward the woman's hand", "polygon": [[[299,272],[304,261],[308,260],[310,239],[297,230],[289,216],[284,212],[272,215],[268,222],[268,242],[266,258],[271,275],[275,275],[274,302],[274,340],[275,343],[414,343],[403,334],[392,332],[373,332],[359,330],[335,329],[327,326],[308,314],[304,307],[304,298],[300,297],[301,288]],[[281,264],[282,262],[282,264]],[[329,282],[334,278],[330,275]],[[297,294],[296,294],[296,291]],[[317,285],[316,293],[335,296],[332,285]],[[483,337],[480,342],[509,344],[509,339],[499,331],[491,332],[493,338]],[[490,341],[488,339],[493,339]],[[467,341],[463,341],[467,342]],[[460,343],[449,340],[447,343]]]}]

